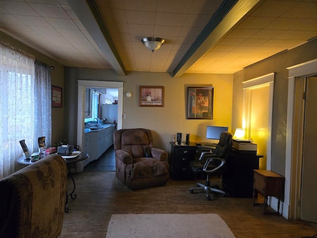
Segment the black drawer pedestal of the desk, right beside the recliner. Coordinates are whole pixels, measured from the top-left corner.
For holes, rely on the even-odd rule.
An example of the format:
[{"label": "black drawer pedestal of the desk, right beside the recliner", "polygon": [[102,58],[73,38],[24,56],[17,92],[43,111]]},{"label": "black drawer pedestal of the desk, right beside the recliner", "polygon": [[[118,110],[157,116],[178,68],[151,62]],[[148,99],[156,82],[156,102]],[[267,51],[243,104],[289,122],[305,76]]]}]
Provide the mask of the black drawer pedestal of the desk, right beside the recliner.
[{"label": "black drawer pedestal of the desk, right beside the recliner", "polygon": [[189,162],[195,160],[197,146],[196,143],[189,145],[171,144],[171,157],[169,161],[169,172],[175,180],[193,179],[194,174],[189,168]]}]

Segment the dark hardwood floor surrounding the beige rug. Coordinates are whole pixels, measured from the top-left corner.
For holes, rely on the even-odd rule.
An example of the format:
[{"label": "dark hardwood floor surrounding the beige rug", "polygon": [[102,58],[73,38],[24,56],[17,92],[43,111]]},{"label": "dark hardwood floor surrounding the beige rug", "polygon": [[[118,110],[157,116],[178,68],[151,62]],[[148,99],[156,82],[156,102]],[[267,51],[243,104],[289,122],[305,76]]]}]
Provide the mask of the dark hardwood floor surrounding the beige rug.
[{"label": "dark hardwood floor surrounding the beige rug", "polygon": [[[113,152],[113,149],[112,149]],[[191,194],[189,188],[198,180],[176,181],[165,185],[131,191],[115,177],[112,170],[114,153],[105,152],[101,161],[74,174],[76,199],[68,200],[60,238],[106,238],[112,214],[139,213],[215,213],[230,227],[236,238],[299,238],[314,236],[317,229],[303,221],[289,221],[281,215],[263,215],[261,206],[253,206],[252,198],[214,195],[207,201],[202,193]],[[112,169],[109,166],[112,161]],[[101,166],[98,168],[98,164]],[[221,180],[212,179],[220,185]],[[70,178],[67,185],[72,187]],[[202,227],[209,221],[201,221]]]}]

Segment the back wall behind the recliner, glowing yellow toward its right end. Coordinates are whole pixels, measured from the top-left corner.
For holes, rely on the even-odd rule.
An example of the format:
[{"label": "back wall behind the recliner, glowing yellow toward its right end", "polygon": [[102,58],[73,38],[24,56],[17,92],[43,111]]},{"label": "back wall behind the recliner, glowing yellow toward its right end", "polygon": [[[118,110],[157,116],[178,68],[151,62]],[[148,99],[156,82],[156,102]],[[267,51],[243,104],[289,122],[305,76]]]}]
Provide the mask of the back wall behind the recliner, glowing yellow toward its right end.
[{"label": "back wall behind the recliner, glowing yellow toward its right end", "polygon": [[[170,151],[169,141],[177,132],[190,133],[191,141],[206,141],[207,125],[229,126],[231,131],[232,111],[232,77],[230,74],[184,74],[180,78],[172,78],[169,73],[160,72],[128,72],[126,76],[118,76],[113,70],[65,68],[66,114],[70,140],[76,142],[76,126],[74,120],[77,110],[76,80],[104,80],[124,82],[124,92],[132,93],[131,98],[123,97],[123,128],[149,128],[153,132],[155,144]],[[164,107],[139,107],[139,86],[164,86]],[[214,103],[213,119],[186,119],[187,87],[213,86]],[[68,108],[69,107],[69,108]]]}]

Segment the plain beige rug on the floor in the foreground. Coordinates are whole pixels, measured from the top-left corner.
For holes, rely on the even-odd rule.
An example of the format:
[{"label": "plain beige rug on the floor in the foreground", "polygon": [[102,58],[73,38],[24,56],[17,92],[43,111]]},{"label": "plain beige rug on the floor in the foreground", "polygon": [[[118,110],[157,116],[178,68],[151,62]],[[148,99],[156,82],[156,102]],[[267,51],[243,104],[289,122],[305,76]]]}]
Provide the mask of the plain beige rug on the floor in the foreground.
[{"label": "plain beige rug on the floor in the foreground", "polygon": [[217,214],[115,214],[106,238],[235,238]]}]

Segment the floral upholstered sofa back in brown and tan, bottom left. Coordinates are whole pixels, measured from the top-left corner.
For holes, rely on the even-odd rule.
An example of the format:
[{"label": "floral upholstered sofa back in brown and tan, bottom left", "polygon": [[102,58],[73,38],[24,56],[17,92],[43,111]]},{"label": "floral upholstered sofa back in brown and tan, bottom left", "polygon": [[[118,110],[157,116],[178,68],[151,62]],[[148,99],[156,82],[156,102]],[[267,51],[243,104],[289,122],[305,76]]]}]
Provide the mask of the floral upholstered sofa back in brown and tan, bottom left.
[{"label": "floral upholstered sofa back in brown and tan, bottom left", "polygon": [[67,166],[49,155],[0,180],[0,238],[56,238],[65,210]]}]

